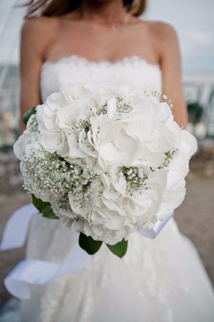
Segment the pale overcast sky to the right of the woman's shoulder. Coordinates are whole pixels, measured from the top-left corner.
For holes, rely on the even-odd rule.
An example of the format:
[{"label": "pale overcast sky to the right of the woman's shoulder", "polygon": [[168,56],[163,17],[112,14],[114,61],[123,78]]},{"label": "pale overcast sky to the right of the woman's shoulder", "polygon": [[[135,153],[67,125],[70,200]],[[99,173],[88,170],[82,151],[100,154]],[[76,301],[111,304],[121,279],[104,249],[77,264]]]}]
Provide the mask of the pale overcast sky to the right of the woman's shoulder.
[{"label": "pale overcast sky to the right of the woman's shoulder", "polygon": [[214,0],[148,0],[144,18],[175,28],[185,72],[214,74]]}]

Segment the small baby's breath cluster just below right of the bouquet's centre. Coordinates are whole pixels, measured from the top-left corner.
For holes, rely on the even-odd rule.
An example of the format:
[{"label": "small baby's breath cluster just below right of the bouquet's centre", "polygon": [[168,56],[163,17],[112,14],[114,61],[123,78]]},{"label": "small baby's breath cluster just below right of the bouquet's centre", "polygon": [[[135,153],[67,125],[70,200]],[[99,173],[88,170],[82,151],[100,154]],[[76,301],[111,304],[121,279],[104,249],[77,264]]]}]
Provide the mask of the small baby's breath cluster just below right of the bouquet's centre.
[{"label": "small baby's breath cluster just below right of the bouquet's centre", "polygon": [[145,182],[146,179],[148,179],[148,176],[143,172],[141,167],[121,166],[117,174],[118,176],[123,175],[125,177],[127,182],[127,194],[130,196],[137,190],[149,189]]}]

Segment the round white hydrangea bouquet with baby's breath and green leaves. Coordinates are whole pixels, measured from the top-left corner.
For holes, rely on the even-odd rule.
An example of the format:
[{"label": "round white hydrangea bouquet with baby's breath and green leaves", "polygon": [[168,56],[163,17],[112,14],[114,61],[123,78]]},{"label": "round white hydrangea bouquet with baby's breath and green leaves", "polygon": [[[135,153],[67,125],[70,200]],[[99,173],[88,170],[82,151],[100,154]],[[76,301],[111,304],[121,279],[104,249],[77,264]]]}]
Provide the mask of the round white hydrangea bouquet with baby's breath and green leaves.
[{"label": "round white hydrangea bouquet with baby's breath and green leaves", "polygon": [[70,85],[24,119],[14,145],[24,188],[43,216],[81,232],[89,254],[104,242],[124,256],[130,233],[182,203],[197,143],[165,96]]}]

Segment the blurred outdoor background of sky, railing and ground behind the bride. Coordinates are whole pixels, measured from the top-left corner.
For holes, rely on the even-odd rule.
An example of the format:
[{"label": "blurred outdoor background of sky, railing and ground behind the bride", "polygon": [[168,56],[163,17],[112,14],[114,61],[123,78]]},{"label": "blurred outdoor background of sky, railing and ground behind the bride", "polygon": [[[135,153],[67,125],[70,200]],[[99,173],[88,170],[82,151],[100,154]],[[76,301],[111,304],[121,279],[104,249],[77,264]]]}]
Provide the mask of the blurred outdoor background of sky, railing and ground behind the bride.
[{"label": "blurred outdoor background of sky, railing and ground behind the bride", "polygon": [[[0,237],[9,215],[31,202],[12,153],[19,133],[19,43],[25,14],[24,8],[13,7],[17,3],[21,1],[0,1]],[[188,129],[197,137],[199,149],[175,219],[197,247],[214,284],[214,0],[148,0],[142,19],[168,22],[178,34]],[[17,303],[3,306],[10,295],[2,280],[23,256],[24,248],[0,253],[0,322],[15,322],[8,312]]]}]

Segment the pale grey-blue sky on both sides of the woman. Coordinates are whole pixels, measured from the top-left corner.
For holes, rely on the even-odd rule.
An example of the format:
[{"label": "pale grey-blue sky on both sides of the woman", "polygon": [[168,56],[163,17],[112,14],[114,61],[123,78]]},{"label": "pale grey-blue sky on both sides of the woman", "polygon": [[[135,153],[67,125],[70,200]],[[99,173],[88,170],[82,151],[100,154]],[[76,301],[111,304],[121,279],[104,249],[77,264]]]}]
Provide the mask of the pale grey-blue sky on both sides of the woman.
[{"label": "pale grey-blue sky on both sides of the woman", "polygon": [[[18,63],[24,0],[0,0],[0,63]],[[214,74],[214,0],[148,0],[142,19],[170,23],[176,30],[186,74]]]}]

